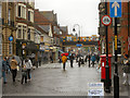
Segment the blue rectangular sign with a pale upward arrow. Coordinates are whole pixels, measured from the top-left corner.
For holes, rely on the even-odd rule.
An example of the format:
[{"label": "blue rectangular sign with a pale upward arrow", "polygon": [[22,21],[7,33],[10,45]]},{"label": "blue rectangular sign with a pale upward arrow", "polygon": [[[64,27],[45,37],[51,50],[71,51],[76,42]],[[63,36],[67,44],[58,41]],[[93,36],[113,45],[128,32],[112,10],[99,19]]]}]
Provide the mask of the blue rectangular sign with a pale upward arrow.
[{"label": "blue rectangular sign with a pale upward arrow", "polygon": [[110,17],[121,17],[121,0],[109,0]]}]

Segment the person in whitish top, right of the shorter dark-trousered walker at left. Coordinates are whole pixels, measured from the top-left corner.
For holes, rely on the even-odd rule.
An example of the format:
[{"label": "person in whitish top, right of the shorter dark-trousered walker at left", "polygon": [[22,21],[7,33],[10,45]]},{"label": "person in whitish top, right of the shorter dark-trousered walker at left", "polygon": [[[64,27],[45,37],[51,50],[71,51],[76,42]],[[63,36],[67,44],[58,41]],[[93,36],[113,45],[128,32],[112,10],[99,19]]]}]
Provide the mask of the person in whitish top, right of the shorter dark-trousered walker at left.
[{"label": "person in whitish top, right of the shorter dark-trousered walker at left", "polygon": [[31,61],[29,60],[29,58],[25,59],[25,65],[26,65],[26,69],[27,69],[27,79],[30,81],[31,79],[31,74],[30,74],[30,70],[32,68],[32,63]]}]

